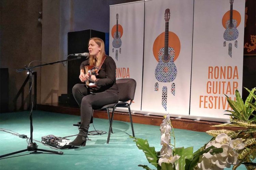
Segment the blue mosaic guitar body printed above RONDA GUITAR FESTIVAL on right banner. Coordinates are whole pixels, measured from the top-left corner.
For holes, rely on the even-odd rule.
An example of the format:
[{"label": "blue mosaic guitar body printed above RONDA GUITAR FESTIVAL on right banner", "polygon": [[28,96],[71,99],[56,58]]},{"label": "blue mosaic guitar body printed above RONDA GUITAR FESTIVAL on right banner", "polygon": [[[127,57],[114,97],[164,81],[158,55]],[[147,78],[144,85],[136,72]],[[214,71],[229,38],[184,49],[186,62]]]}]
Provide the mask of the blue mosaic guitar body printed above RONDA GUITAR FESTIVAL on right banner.
[{"label": "blue mosaic guitar body printed above RONDA GUITAR FESTIVAL on right banner", "polygon": [[239,32],[237,30],[237,20],[232,19],[232,25],[233,27],[229,27],[230,25],[230,20],[227,20],[226,22],[226,30],[223,34],[223,38],[226,41],[233,41],[236,40],[238,38]]}]

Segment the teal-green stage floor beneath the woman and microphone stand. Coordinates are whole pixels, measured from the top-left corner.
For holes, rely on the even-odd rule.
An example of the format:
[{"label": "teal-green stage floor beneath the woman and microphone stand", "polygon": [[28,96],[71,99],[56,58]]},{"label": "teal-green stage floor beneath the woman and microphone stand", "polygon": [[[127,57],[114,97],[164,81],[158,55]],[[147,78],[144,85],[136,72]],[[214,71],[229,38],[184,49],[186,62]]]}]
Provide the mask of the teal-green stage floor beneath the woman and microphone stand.
[{"label": "teal-green stage floor beneath the woman and microphone stand", "polygon": [[[80,121],[80,116],[58,114],[43,111],[33,111],[33,139],[41,141],[42,136],[55,135],[64,137],[78,133],[74,123]],[[108,132],[109,122],[106,119],[94,118],[96,130]],[[160,151],[159,126],[134,123],[135,136],[147,139],[151,147]],[[12,130],[30,137],[29,112],[15,112],[0,114],[0,128]],[[90,131],[94,130],[92,124]],[[90,135],[91,141],[86,142],[85,147],[76,149],[55,150],[36,142],[39,149],[63,151],[63,155],[42,153],[30,154],[26,151],[15,155],[3,157],[0,160],[1,170],[142,170],[137,165],[151,166],[142,152],[129,138],[132,135],[130,122],[114,121],[113,132],[109,144],[106,143],[108,134]],[[0,131],[0,155],[24,150],[27,148],[27,140]],[[175,129],[176,147],[194,146],[194,151],[211,139],[204,132],[194,132]],[[70,137],[73,140],[75,137]],[[246,169],[240,166],[239,170]]]}]

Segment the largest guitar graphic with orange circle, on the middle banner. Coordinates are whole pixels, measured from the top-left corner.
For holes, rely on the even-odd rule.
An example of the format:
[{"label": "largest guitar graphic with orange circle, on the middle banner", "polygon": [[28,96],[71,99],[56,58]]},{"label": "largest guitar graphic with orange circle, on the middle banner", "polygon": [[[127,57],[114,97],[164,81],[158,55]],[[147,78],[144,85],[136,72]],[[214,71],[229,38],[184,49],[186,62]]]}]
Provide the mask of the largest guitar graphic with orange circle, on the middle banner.
[{"label": "largest guitar graphic with orange circle, on the middle banner", "polygon": [[[177,76],[177,68],[174,61],[180,53],[179,37],[169,31],[170,9],[165,10],[165,32],[161,33],[154,41],[153,54],[158,61],[155,70],[155,78],[158,82],[173,82]],[[158,53],[157,53],[158,51]],[[158,91],[159,84],[155,83],[155,91]],[[167,111],[167,86],[162,87],[161,104]],[[175,83],[171,84],[171,93],[175,96]]]}]

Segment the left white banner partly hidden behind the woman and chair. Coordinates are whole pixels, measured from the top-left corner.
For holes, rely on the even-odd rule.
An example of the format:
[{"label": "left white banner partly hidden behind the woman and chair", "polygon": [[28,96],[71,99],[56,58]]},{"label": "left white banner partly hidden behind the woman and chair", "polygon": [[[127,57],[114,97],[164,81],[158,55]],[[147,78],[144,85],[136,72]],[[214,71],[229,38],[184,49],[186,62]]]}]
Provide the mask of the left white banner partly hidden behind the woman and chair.
[{"label": "left white banner partly hidden behind the woman and chair", "polygon": [[144,1],[110,6],[109,55],[116,63],[116,79],[137,82],[132,111],[141,110],[143,34]]}]

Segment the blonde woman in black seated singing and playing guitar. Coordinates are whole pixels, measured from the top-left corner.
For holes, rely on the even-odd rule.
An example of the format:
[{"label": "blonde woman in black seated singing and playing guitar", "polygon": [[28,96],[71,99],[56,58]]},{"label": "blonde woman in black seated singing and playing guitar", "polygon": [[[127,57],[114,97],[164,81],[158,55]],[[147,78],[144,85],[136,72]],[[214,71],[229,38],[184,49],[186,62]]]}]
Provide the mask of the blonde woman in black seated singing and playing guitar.
[{"label": "blonde woman in black seated singing and playing guitar", "polygon": [[[89,60],[82,62],[79,79],[81,82],[86,80],[95,82],[96,87],[87,88],[85,84],[76,84],[72,89],[73,96],[81,108],[81,126],[79,134],[74,141],[70,142],[70,145],[85,146],[93,108],[101,108],[119,100],[116,85],[116,65],[110,56],[105,55],[104,48],[102,39],[96,37],[89,39]],[[103,56],[106,58],[98,71],[98,75],[85,73],[86,65],[100,67]]]}]

